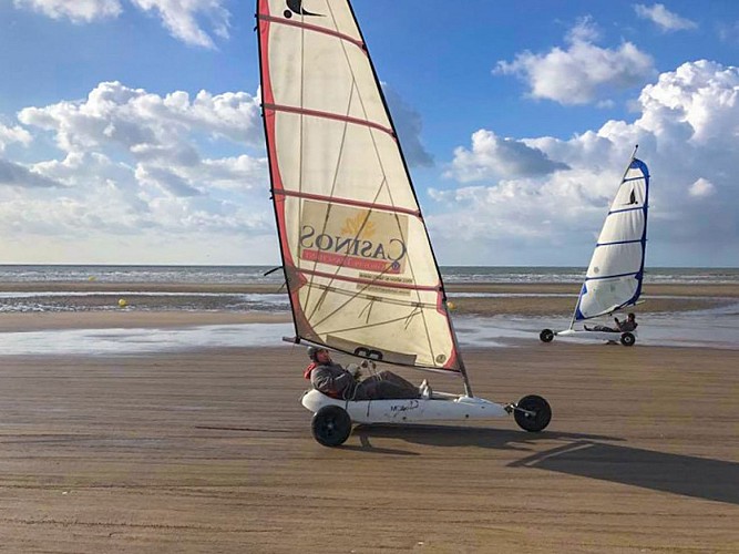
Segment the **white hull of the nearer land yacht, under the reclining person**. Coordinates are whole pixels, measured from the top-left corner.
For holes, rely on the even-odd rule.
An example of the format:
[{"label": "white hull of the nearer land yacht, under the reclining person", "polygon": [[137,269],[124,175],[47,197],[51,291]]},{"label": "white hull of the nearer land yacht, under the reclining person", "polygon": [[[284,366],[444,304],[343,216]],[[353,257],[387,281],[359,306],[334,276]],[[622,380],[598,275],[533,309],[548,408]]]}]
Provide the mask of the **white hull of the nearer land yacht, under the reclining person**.
[{"label": "white hull of the nearer land yacht, under the reclining person", "polygon": [[345,401],[329,398],[317,390],[302,397],[302,406],[317,412],[326,406],[338,406],[355,423],[415,423],[425,421],[459,421],[502,418],[509,412],[501,404],[472,397],[442,397],[407,400]]}]

